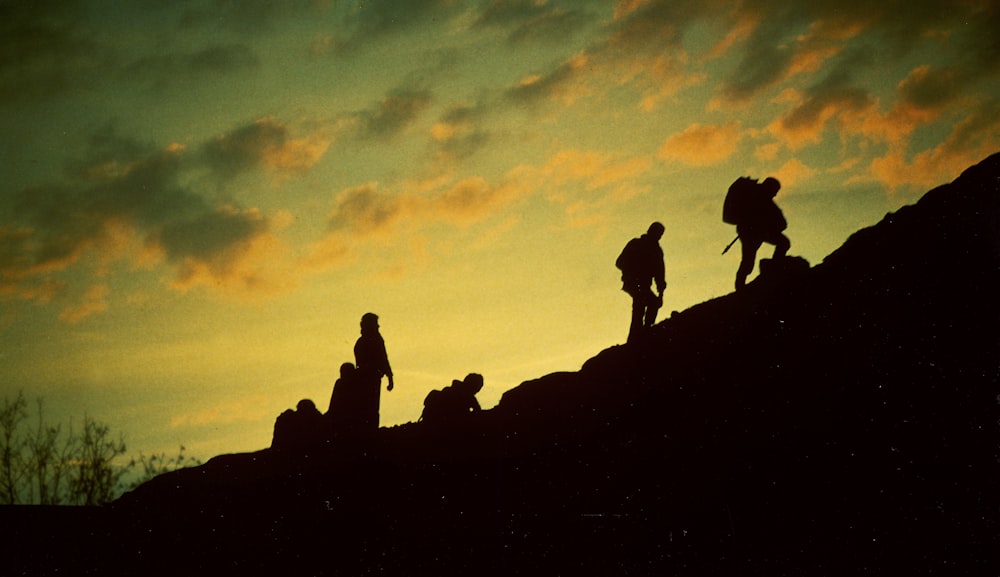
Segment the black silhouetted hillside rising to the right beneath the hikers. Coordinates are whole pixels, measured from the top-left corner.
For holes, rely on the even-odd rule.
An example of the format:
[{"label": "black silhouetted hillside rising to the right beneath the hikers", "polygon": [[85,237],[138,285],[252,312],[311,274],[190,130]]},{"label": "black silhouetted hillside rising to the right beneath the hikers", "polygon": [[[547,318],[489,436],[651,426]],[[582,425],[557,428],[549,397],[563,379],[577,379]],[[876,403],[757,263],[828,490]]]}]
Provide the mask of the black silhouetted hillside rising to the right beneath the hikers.
[{"label": "black silhouetted hillside rising to the right beneath the hikers", "polygon": [[92,533],[123,552],[100,570],[987,574],[998,178],[994,155],[823,263],[523,383],[461,430],[158,477]]}]

